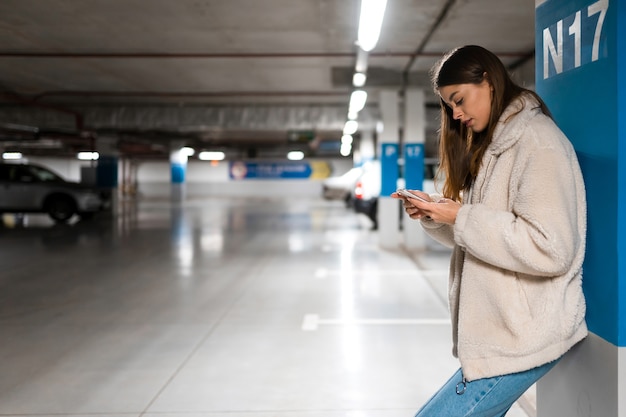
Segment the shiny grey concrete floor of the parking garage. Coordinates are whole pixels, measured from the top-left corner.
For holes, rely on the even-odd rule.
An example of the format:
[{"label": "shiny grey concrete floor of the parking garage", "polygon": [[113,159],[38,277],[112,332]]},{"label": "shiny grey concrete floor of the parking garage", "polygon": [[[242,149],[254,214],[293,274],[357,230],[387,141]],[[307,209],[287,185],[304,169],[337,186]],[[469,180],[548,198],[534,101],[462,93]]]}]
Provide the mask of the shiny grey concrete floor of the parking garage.
[{"label": "shiny grey concrete floor of the parking garage", "polygon": [[3,220],[3,417],[409,417],[458,367],[449,252],[382,250],[339,202]]}]

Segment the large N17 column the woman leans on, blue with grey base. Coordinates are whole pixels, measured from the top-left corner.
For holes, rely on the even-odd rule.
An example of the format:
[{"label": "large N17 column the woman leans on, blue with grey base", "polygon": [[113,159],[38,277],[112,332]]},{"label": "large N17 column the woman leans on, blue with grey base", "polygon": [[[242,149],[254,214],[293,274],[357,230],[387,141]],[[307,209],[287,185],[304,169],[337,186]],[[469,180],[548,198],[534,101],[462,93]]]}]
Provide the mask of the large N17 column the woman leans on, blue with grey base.
[{"label": "large N17 column the woman leans on, blue with grey base", "polygon": [[626,416],[626,2],[537,2],[535,28],[537,92],[585,177],[591,332],[537,384],[537,415]]}]

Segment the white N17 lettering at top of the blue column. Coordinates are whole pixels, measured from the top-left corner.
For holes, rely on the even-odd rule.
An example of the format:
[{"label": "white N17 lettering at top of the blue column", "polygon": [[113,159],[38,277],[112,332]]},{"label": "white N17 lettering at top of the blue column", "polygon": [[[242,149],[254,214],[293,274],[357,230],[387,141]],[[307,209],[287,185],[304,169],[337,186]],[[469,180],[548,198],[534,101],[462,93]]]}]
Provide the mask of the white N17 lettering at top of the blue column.
[{"label": "white N17 lettering at top of the blue column", "polygon": [[544,80],[606,56],[601,40],[608,9],[609,0],[598,0],[543,29]]}]

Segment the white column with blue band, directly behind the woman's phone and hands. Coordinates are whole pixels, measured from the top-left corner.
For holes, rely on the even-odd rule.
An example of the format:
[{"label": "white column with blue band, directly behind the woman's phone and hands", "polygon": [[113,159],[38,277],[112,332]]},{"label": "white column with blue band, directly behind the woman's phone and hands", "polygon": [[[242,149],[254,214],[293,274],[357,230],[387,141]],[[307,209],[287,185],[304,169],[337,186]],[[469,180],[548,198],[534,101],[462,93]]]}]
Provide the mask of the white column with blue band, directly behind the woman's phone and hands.
[{"label": "white column with blue band, directly behind the woman's phone and hands", "polygon": [[[407,90],[404,96],[404,179],[409,190],[424,189],[424,140],[426,108],[424,91]],[[418,221],[402,216],[404,245],[410,250],[426,247],[424,229]]]}]

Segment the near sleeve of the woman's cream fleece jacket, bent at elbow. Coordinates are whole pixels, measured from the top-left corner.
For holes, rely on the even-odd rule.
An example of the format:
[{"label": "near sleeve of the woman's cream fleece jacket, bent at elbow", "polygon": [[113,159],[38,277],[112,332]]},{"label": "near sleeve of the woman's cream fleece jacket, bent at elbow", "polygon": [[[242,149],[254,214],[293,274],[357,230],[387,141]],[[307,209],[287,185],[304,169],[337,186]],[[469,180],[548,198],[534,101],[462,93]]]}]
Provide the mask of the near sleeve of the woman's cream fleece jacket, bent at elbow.
[{"label": "near sleeve of the woman's cream fleece jacket, bent at elbow", "polygon": [[[535,147],[527,156],[516,160],[514,179],[491,198],[461,207],[454,238],[490,265],[536,276],[562,275],[584,246],[582,174],[564,137]],[[508,208],[498,208],[498,199],[507,200]]]}]

